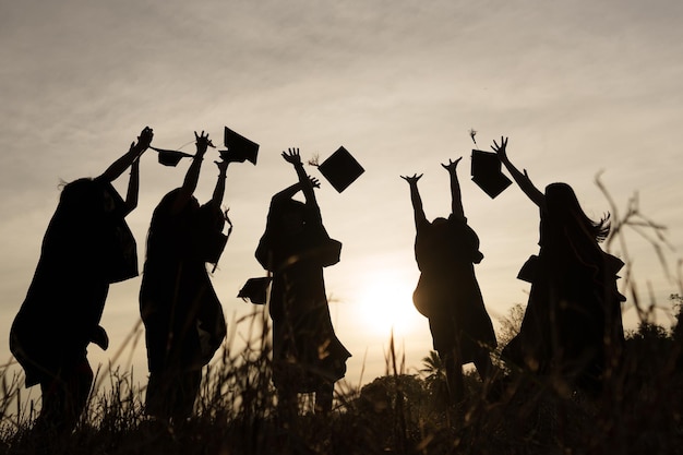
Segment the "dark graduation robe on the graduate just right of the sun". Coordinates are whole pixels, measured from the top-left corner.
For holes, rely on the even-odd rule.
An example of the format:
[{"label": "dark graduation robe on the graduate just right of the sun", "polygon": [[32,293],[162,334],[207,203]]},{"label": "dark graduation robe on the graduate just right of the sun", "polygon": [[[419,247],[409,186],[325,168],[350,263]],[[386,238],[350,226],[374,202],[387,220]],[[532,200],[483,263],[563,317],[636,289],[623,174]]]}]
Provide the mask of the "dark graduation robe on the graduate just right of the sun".
[{"label": "dark graduation robe on the graduate just right of the sun", "polygon": [[466,219],[451,215],[417,226],[415,255],[420,279],[412,299],[429,319],[434,349],[444,356],[457,349],[463,364],[482,348],[496,346],[475,266],[483,255],[479,238]]}]

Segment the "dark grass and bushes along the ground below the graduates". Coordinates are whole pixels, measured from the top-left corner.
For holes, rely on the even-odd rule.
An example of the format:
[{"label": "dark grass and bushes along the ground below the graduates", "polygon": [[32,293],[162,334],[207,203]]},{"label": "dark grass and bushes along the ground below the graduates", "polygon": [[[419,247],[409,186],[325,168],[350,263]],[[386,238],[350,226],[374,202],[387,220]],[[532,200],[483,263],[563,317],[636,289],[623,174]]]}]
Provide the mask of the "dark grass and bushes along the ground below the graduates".
[{"label": "dark grass and bushes along the ground below the graduates", "polygon": [[184,424],[148,419],[144,388],[112,371],[68,438],[32,431],[35,410],[17,402],[21,379],[8,378],[5,368],[0,454],[676,454],[683,453],[681,343],[675,331],[640,324],[627,334],[626,368],[598,397],[525,375],[482,386],[470,373],[457,407],[446,405],[435,352],[411,375],[390,349],[387,374],[360,388],[343,384],[329,416],[315,416],[304,399],[300,420],[281,422],[267,343],[259,340],[240,352],[226,348]]}]

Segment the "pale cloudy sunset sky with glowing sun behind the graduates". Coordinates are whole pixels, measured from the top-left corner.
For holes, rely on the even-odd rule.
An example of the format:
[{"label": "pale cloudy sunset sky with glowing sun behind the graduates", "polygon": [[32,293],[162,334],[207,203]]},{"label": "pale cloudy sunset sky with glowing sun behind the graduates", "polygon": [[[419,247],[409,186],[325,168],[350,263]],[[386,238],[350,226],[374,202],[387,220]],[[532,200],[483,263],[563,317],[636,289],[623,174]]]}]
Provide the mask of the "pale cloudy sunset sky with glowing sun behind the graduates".
[{"label": "pale cloudy sunset sky with glowing sun behind the graduates", "polygon": [[[235,229],[212,278],[236,343],[248,330],[235,321],[262,310],[236,296],[265,274],[253,253],[271,196],[296,181],[280,156],[288,147],[323,160],[344,145],[366,169],[337,193],[307,167],[322,181],[327,231],[344,243],[325,283],[337,336],[354,355],[349,383],[384,373],[392,331],[409,373],[432,347],[411,302],[419,272],[402,175],[423,173],[428,218],[447,216],[440,164],[464,157],[463,204],[484,254],[476,274],[499,330],[513,304],[526,303],[528,285],[516,275],[538,250],[538,212],[522,191],[513,185],[492,200],[469,179],[470,151],[490,149],[502,135],[538,188],[565,181],[599,218],[610,211],[600,175],[613,217],[637,197],[639,211],[667,228],[666,267],[646,238],[628,231],[626,239],[644,300],[670,324],[683,248],[682,16],[676,0],[3,1],[0,361],[11,359],[11,322],[60,181],[99,175],[145,125],[163,148],[193,153],[193,131],[218,143],[224,125],[261,146],[256,166],[228,169]],[[215,184],[211,161],[200,202]],[[140,204],[128,217],[141,268],[152,212],[188,165],[160,166],[152,151],[142,157]],[[115,182],[121,193],[125,177]],[[624,256],[619,243],[612,252]],[[95,366],[132,366],[144,384],[143,345],[113,358],[140,321],[139,289],[140,278],[111,286],[101,322],[111,346],[93,346],[88,357]],[[633,299],[624,320],[637,322]]]}]

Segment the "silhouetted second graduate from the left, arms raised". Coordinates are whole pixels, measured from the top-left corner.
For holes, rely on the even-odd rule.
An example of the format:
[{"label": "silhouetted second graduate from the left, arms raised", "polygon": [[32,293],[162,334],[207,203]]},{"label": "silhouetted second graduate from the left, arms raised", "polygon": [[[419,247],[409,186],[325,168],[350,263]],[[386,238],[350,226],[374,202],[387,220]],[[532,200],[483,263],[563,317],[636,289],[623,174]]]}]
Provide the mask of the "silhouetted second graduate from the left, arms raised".
[{"label": "silhouetted second graduate from the left, arms raised", "polygon": [[223,309],[207,263],[217,263],[227,236],[220,211],[228,161],[217,163],[213,197],[200,206],[193,193],[208,134],[196,135],[196,154],[181,188],[167,193],[154,209],[140,290],[149,382],[146,412],[182,423],[192,415],[202,368],[226,335]]}]

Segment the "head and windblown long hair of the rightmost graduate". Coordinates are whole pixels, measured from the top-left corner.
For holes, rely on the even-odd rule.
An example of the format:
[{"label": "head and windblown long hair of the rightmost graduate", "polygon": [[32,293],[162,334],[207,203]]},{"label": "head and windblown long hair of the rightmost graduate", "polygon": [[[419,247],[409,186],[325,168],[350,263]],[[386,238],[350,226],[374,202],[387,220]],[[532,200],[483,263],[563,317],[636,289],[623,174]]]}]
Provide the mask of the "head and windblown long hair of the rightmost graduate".
[{"label": "head and windblown long hair of the rightmost graduate", "polygon": [[562,226],[575,226],[597,241],[602,241],[610,234],[610,215],[596,223],[583,211],[576,193],[566,183],[550,183],[546,187],[546,206],[551,220]]}]

